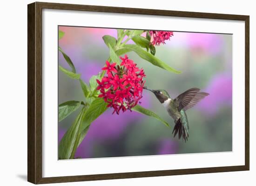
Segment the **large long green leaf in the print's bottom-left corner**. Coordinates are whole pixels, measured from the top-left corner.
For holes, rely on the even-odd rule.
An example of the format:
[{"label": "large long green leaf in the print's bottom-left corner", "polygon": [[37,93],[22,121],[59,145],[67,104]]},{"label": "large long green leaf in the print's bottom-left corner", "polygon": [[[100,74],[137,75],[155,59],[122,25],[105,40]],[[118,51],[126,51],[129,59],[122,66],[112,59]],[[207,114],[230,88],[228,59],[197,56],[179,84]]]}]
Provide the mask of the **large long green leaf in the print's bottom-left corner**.
[{"label": "large long green leaf in the print's bottom-left corner", "polygon": [[79,115],[76,117],[74,123],[62,137],[58,149],[59,159],[67,160],[71,158],[72,154],[74,154],[74,151],[76,150],[80,139],[79,131],[81,128],[82,118],[84,116],[85,110],[86,109],[84,107],[79,113]]}]

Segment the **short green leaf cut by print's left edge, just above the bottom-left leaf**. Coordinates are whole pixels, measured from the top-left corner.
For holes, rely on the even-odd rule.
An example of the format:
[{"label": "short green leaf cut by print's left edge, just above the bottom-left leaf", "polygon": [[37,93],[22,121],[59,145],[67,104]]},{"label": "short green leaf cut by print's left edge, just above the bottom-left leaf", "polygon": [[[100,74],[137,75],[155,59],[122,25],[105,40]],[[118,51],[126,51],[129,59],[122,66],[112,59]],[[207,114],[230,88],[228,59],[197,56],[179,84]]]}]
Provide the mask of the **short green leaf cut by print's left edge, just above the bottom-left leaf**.
[{"label": "short green leaf cut by print's left edge, just above the bottom-left leaf", "polygon": [[81,102],[68,101],[59,105],[59,122],[78,109]]}]

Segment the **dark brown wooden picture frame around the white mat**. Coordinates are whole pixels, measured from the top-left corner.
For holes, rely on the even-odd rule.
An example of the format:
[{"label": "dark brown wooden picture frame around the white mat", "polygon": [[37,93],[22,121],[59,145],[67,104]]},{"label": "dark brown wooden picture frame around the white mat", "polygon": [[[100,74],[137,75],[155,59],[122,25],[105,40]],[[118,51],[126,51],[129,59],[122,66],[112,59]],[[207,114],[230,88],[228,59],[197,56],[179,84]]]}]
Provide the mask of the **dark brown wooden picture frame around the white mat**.
[{"label": "dark brown wooden picture frame around the white mat", "polygon": [[[245,21],[245,165],[42,178],[42,9]],[[249,170],[249,16],[35,2],[27,6],[27,180],[34,184]]]}]

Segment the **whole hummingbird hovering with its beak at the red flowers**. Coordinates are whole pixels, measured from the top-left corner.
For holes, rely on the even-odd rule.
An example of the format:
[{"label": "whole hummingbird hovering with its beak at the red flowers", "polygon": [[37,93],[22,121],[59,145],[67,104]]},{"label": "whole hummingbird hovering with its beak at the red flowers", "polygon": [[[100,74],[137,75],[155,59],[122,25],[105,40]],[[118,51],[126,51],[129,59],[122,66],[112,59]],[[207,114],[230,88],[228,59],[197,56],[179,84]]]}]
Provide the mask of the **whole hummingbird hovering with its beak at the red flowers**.
[{"label": "whole hummingbird hovering with its beak at the red flowers", "polygon": [[200,92],[198,88],[192,88],[172,99],[166,90],[151,90],[147,87],[143,87],[143,89],[153,92],[159,102],[167,109],[168,114],[174,119],[175,127],[172,131],[174,137],[179,134],[179,139],[182,137],[182,141],[188,141],[189,122],[186,110],[195,106],[196,103],[209,94]]}]

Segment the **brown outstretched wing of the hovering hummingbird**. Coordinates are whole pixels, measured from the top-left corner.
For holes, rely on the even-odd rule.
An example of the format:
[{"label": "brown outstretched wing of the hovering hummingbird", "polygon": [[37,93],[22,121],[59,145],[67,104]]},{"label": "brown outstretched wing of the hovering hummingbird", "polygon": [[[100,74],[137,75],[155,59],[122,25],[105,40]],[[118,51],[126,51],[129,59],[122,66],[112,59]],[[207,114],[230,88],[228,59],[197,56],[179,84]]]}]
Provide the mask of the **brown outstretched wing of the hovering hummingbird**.
[{"label": "brown outstretched wing of the hovering hummingbird", "polygon": [[187,109],[194,107],[195,104],[202,100],[205,96],[209,95],[206,92],[199,91],[200,89],[198,88],[192,88],[177,96],[174,101],[178,105],[178,110],[181,111],[183,109],[186,111]]}]

